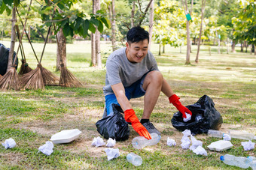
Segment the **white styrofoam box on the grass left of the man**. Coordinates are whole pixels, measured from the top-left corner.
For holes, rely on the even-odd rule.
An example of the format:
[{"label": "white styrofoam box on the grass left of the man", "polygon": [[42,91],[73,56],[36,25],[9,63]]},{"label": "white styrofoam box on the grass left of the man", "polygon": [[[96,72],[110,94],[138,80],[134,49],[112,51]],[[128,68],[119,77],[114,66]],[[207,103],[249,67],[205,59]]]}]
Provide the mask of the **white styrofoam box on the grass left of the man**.
[{"label": "white styrofoam box on the grass left of the man", "polygon": [[78,136],[81,133],[82,132],[78,129],[62,130],[59,133],[51,136],[50,140],[53,142],[53,144],[69,143],[75,139],[78,139]]}]

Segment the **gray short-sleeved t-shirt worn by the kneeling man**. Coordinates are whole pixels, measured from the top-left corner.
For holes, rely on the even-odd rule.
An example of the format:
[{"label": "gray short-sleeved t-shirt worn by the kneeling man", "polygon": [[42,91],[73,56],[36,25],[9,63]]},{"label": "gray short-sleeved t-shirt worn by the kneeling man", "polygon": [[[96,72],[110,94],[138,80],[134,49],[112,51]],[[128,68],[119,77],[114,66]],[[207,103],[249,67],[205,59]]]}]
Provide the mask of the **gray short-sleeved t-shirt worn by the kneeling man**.
[{"label": "gray short-sleeved t-shirt worn by the kneeling man", "polygon": [[134,82],[142,79],[148,71],[158,70],[157,61],[148,51],[147,55],[139,63],[131,63],[126,57],[126,47],[117,49],[108,56],[106,63],[104,95],[114,94],[111,85],[122,82],[123,87],[129,87]]}]

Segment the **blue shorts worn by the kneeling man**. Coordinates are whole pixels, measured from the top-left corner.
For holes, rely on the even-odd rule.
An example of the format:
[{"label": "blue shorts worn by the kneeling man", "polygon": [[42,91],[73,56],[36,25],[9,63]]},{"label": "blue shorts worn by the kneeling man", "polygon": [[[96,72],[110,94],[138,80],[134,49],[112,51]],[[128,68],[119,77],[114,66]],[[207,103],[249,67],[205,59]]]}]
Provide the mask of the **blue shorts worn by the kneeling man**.
[{"label": "blue shorts worn by the kneeling man", "polygon": [[[124,88],[125,95],[128,100],[130,100],[131,98],[138,98],[145,95],[146,91],[142,88],[142,85],[146,75],[147,73],[145,73],[145,75],[142,76],[142,79],[139,79],[137,82],[134,82],[133,85],[130,85],[130,87]],[[120,104],[117,102],[117,97],[114,94],[106,95],[105,96],[105,111],[107,113],[106,115],[113,114],[113,108],[112,108],[113,103],[120,106]]]}]

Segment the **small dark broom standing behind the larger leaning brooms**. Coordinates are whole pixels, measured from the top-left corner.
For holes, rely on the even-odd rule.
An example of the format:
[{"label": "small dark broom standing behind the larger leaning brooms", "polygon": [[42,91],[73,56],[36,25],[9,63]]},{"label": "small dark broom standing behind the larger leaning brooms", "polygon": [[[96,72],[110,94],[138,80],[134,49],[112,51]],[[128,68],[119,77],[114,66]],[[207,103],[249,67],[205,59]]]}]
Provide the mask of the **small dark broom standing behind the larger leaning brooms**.
[{"label": "small dark broom standing behind the larger leaning brooms", "polygon": [[[18,35],[18,39],[20,41],[20,30],[19,30],[19,26],[16,25],[17,28],[17,35]],[[32,68],[29,67],[29,64],[27,64],[26,62],[26,57],[25,57],[25,52],[23,49],[23,43],[20,42],[20,54],[21,54],[21,66],[20,66],[20,71],[19,71],[19,75],[23,75],[25,73],[29,73],[30,71],[32,71]]]}]

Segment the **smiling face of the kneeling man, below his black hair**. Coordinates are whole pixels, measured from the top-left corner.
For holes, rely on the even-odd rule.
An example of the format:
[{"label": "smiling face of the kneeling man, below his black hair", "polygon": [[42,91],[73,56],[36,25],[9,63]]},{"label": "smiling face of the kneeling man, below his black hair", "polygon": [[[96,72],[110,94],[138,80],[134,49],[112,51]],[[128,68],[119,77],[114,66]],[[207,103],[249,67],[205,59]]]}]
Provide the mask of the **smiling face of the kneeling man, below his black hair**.
[{"label": "smiling face of the kneeling man, below his black hair", "polygon": [[141,40],[138,43],[126,42],[126,56],[132,63],[139,63],[148,53],[148,39]]}]

